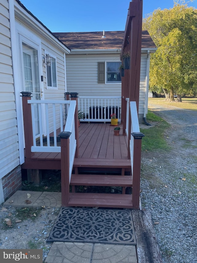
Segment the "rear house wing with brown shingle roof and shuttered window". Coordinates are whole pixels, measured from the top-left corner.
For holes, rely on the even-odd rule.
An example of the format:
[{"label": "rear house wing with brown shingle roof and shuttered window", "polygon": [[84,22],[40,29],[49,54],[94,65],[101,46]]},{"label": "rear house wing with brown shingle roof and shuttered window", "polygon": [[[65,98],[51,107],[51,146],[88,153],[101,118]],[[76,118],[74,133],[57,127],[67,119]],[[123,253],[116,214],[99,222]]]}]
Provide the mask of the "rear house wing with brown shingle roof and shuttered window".
[{"label": "rear house wing with brown shingle roof and shuttered window", "polygon": [[[121,96],[121,81],[107,81],[107,63],[120,62],[124,31],[54,33],[71,52],[66,55],[68,92],[78,96]],[[142,33],[139,121],[147,114],[150,53],[156,46],[147,31]],[[98,62],[105,64],[103,83],[98,81]],[[118,75],[118,74],[117,74]],[[116,79],[119,80],[119,79]]]}]

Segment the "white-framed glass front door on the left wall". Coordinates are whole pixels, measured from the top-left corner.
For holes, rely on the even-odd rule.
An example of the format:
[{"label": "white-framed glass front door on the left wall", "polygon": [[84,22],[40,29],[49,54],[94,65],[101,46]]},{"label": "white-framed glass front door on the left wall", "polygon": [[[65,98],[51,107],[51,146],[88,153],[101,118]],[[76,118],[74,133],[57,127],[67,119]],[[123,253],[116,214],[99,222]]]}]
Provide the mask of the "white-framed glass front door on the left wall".
[{"label": "white-framed glass front door on the left wall", "polygon": [[[38,47],[30,40],[21,37],[21,62],[22,62],[22,80],[23,91],[32,93],[32,100],[41,99],[40,75],[39,75],[39,56]],[[40,134],[38,104],[34,105],[34,129],[36,137]]]}]

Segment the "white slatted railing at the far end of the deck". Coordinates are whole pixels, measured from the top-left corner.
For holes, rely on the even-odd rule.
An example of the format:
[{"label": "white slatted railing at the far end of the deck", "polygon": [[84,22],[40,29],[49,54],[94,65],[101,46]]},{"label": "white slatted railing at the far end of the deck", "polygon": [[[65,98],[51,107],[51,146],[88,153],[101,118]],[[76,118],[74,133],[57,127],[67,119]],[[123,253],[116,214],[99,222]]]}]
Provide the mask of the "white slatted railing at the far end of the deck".
[{"label": "white slatted railing at the far end of the deck", "polygon": [[121,96],[79,96],[78,110],[86,116],[80,121],[111,121],[112,113],[121,121]]}]

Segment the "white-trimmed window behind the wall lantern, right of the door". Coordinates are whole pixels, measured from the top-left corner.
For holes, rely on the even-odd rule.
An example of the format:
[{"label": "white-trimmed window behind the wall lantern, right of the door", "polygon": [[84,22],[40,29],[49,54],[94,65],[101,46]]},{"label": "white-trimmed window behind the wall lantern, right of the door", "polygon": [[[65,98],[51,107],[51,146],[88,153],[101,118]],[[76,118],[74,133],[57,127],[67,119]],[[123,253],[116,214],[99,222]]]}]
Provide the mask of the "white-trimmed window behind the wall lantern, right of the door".
[{"label": "white-trimmed window behind the wall lantern, right of the door", "polygon": [[51,56],[50,66],[46,65],[46,85],[49,89],[58,89],[57,85],[57,67],[56,67],[56,57],[46,52]]}]

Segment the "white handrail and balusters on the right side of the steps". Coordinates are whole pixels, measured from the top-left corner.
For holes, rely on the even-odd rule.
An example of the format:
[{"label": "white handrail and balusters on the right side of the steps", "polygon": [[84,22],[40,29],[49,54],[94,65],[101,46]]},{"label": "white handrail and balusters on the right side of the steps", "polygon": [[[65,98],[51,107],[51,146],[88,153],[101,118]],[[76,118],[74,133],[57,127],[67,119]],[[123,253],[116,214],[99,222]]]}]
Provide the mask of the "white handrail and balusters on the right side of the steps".
[{"label": "white handrail and balusters on the right side of the steps", "polygon": [[[131,112],[131,133],[140,132],[138,113],[135,101],[130,101],[130,112]],[[134,155],[134,137],[131,136],[130,140],[130,155],[131,155],[131,172],[133,175],[133,155]]]}]

